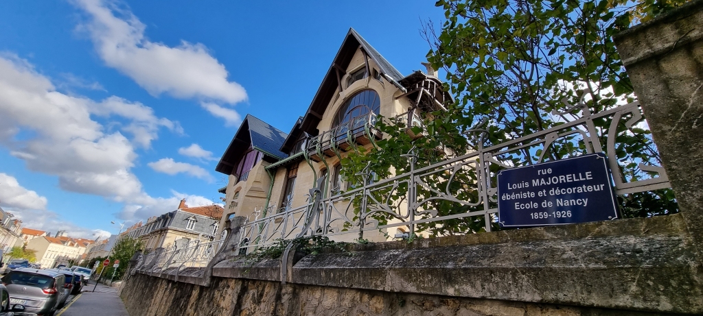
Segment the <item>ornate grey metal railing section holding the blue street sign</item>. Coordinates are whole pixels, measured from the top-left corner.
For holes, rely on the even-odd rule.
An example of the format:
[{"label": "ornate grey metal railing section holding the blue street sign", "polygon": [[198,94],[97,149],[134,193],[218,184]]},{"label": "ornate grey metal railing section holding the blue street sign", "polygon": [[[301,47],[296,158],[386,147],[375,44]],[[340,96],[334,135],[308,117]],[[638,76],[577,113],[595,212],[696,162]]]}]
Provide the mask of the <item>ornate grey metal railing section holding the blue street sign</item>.
[{"label": "ornate grey metal railing section holding the blue street sign", "polygon": [[[565,119],[579,107],[581,117]],[[330,179],[321,178],[309,190],[307,204],[248,222],[241,235],[240,254],[276,239],[311,235],[363,237],[365,232],[368,236],[368,232],[380,231],[393,237],[394,228],[408,235],[420,231],[430,235],[490,231],[499,220],[498,171],[581,154],[607,154],[617,195],[670,187],[662,166],[617,157],[617,138],[632,133],[633,126],[642,122],[638,103],[596,114],[579,103],[553,115],[561,117],[563,124],[489,147],[484,147],[487,131],[472,130],[467,137],[474,141],[474,152],[436,164],[418,163],[417,154],[411,150],[404,155],[409,166],[406,172],[334,196],[328,196],[330,192],[325,189],[331,187],[325,185]],[[320,152],[323,144],[333,142],[337,134],[323,133],[308,148]],[[565,146],[570,149],[568,154],[555,152],[555,148]],[[368,171],[358,176],[363,177],[363,183],[370,183]],[[448,231],[449,226],[452,229]]]}]

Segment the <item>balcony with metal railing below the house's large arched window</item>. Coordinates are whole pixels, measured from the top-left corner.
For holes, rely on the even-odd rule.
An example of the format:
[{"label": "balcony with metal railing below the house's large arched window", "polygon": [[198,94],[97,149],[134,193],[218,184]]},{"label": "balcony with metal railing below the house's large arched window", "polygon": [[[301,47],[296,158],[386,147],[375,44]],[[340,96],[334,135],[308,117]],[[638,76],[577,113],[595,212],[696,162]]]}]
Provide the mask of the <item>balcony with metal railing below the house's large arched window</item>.
[{"label": "balcony with metal railing below the house's large arched window", "polygon": [[310,159],[320,162],[326,157],[334,157],[339,152],[352,150],[356,145],[368,145],[373,138],[380,140],[381,133],[374,128],[374,124],[376,114],[368,113],[354,117],[334,129],[309,138],[304,148]]}]

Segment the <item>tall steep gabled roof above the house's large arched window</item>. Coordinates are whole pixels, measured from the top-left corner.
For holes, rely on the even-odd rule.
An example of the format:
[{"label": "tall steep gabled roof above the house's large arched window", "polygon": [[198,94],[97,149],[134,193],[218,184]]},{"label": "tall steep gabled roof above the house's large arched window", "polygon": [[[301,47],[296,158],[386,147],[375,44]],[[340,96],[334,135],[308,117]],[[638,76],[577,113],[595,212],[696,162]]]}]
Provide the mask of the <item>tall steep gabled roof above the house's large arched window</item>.
[{"label": "tall steep gabled roof above the house's large arched window", "polygon": [[299,131],[297,131],[298,133],[291,133],[288,138],[285,139],[285,143],[280,147],[281,151],[290,152],[302,132],[309,133],[313,136],[317,135],[315,131],[316,126],[321,121],[322,115],[325,113],[325,109],[330,103],[330,100],[332,100],[335,93],[337,93],[337,74],[335,66],[347,69],[349,63],[352,62],[352,58],[354,58],[356,50],[360,47],[363,51],[366,51],[368,57],[378,65],[380,68],[379,71],[387,81],[396,85],[398,88],[405,89],[404,86],[399,84],[399,81],[403,79],[403,74],[396,70],[388,60],[383,58],[373,46],[368,44],[368,41],[363,39],[355,29],[349,28],[347,37],[344,37],[342,46],[340,46],[339,51],[337,51],[337,55],[335,55],[335,58],[332,60],[332,64],[330,64],[330,68],[327,70],[322,84],[320,84],[312,103],[310,103],[310,107],[308,107],[307,112],[305,112],[305,116],[299,126]]}]

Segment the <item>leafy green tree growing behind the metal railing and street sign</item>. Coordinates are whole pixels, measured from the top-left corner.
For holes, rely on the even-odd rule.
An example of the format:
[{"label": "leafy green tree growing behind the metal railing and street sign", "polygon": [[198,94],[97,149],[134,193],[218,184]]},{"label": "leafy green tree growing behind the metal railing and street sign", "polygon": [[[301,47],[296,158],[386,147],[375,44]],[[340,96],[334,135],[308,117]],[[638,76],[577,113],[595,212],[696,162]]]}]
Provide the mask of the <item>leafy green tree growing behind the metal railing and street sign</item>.
[{"label": "leafy green tree growing behind the metal railing and street sign", "polygon": [[[432,46],[427,58],[435,69],[446,72],[445,90],[454,96],[446,112],[425,117],[426,136],[418,140],[404,137],[403,121],[385,119],[377,125],[392,141],[380,141],[369,151],[350,154],[342,161],[353,179],[368,168],[380,176],[396,169],[407,170],[407,159],[400,157],[415,147],[418,163],[429,164],[446,153],[463,153],[527,136],[564,124],[578,117],[583,103],[591,113],[603,112],[619,103],[634,100],[633,88],[617,53],[612,35],[635,20],[673,8],[680,0],[666,4],[652,0],[626,2],[617,0],[439,0],[447,19],[439,33],[432,22],[423,36]],[[658,8],[652,8],[658,6]],[[633,119],[633,116],[623,119]],[[641,123],[640,119],[640,123]],[[594,124],[607,143],[608,119]],[[416,129],[416,128],[415,128]],[[626,166],[625,182],[650,178],[652,174],[638,168],[640,163],[661,166],[650,131],[643,124],[628,128],[617,124],[615,154]],[[419,131],[419,130],[418,130]],[[415,131],[415,132],[418,132]],[[480,137],[476,137],[480,134]],[[449,148],[446,148],[449,147]],[[444,148],[438,150],[438,148]],[[506,165],[527,166],[586,153],[578,136],[560,138],[548,148],[524,148],[504,157]],[[392,168],[391,168],[392,167]],[[491,172],[501,167],[491,165]],[[446,175],[427,181],[434,188],[448,183]],[[475,175],[453,178],[456,197],[475,198],[476,191],[463,190],[477,183]],[[356,179],[359,181],[359,179]],[[423,192],[425,190],[425,192]],[[428,194],[421,188],[418,195]],[[390,192],[374,192],[376,195]],[[402,187],[396,193],[404,193]],[[396,194],[393,193],[393,194]],[[401,194],[397,197],[401,199]],[[627,217],[675,213],[678,206],[670,189],[641,192],[619,197]],[[447,201],[433,201],[437,215],[470,211]],[[493,204],[491,204],[493,205]],[[380,223],[387,220],[382,215]],[[480,217],[480,218],[479,218]],[[478,232],[482,216],[449,220],[435,225],[419,225],[431,235]],[[496,227],[497,228],[497,227]]]}]

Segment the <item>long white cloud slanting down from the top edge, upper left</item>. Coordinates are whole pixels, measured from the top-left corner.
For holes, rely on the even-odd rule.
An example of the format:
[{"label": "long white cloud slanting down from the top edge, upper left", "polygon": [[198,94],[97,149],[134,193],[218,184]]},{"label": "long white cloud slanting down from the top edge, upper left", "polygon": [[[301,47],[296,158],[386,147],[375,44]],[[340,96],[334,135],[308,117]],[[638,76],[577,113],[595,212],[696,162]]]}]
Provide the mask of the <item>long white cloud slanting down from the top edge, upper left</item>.
[{"label": "long white cloud slanting down from the top edge, upper left", "polygon": [[169,47],[149,41],[144,36],[146,26],[129,9],[109,1],[76,0],[75,4],[89,14],[90,21],[82,27],[98,55],[150,93],[230,104],[247,99],[245,89],[227,80],[224,65],[204,45],[182,41]]}]

